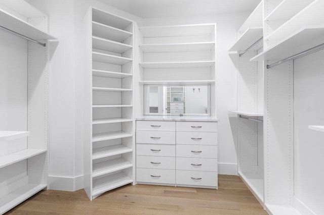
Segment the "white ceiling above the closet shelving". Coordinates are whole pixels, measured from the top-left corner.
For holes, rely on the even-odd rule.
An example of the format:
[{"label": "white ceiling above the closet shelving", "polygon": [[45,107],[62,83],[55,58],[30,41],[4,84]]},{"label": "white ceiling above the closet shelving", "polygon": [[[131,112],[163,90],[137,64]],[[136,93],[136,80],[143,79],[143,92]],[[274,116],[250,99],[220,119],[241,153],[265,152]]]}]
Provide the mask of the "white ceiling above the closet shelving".
[{"label": "white ceiling above the closet shelving", "polygon": [[99,0],[141,18],[252,12],[261,0]]}]

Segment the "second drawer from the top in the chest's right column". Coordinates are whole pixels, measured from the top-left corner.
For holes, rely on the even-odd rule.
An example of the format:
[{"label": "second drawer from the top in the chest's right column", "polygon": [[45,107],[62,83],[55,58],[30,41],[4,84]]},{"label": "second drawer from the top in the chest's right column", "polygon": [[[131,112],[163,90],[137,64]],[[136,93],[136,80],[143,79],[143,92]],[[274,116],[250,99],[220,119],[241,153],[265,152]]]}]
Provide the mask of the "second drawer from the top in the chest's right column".
[{"label": "second drawer from the top in the chest's right column", "polygon": [[217,145],[217,132],[177,132],[177,144]]}]

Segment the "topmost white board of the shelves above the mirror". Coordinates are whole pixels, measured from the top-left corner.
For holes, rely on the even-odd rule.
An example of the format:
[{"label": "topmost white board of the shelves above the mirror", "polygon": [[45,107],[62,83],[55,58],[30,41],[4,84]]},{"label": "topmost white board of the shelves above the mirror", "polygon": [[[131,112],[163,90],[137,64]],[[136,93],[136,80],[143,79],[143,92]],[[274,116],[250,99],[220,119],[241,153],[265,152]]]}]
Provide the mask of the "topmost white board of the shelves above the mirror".
[{"label": "topmost white board of the shelves above the mirror", "polygon": [[140,27],[143,37],[204,35],[215,32],[215,24]]}]

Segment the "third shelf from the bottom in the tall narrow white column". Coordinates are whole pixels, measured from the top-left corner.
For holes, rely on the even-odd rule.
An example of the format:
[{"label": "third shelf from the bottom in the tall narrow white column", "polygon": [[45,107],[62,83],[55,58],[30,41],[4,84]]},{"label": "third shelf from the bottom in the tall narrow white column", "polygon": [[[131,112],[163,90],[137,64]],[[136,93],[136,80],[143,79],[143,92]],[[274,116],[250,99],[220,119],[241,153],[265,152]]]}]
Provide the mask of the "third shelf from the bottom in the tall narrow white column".
[{"label": "third shelf from the bottom in the tall narrow white column", "polygon": [[99,159],[103,157],[109,157],[117,154],[123,154],[132,152],[133,149],[125,146],[125,145],[113,145],[103,148],[95,148],[92,150],[92,159]]}]

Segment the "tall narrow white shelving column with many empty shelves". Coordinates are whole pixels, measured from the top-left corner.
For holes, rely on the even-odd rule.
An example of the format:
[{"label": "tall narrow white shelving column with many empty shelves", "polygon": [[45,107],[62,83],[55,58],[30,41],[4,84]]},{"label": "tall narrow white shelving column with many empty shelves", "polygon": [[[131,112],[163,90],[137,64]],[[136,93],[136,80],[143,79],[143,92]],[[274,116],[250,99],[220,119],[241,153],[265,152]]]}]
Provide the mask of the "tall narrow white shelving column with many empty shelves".
[{"label": "tall narrow white shelving column with many empty shelves", "polygon": [[90,8],[85,190],[92,200],[133,182],[133,21]]}]

